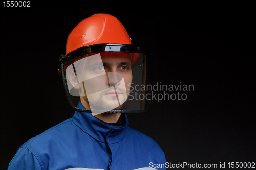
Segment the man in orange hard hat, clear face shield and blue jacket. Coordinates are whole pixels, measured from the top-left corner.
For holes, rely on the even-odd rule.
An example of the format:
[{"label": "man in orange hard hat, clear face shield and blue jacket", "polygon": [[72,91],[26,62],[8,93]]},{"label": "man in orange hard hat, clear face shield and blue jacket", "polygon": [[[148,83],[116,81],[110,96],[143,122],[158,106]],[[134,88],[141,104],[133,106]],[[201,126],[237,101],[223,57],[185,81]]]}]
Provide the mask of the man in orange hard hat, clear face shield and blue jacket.
[{"label": "man in orange hard hat, clear face shield and blue jacket", "polygon": [[129,128],[125,114],[149,107],[146,91],[132,88],[146,84],[146,53],[111,15],[81,21],[68,37],[59,70],[75,114],[23,144],[8,169],[133,170],[164,164],[159,145]]}]

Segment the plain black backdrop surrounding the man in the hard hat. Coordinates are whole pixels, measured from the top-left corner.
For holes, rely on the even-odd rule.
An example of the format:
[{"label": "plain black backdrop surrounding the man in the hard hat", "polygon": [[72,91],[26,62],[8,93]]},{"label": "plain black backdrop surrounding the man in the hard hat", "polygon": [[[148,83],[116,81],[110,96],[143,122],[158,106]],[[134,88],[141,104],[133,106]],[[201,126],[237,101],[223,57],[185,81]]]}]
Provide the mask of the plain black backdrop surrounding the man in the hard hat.
[{"label": "plain black backdrop surrounding the man in the hard hat", "polygon": [[194,85],[181,91],[186,100],[153,100],[150,112],[128,115],[130,127],[153,138],[167,162],[256,162],[250,4],[1,6],[1,169],[20,145],[74,114],[58,57],[72,29],[95,13],[114,15],[133,44],[150,48],[152,85]]}]

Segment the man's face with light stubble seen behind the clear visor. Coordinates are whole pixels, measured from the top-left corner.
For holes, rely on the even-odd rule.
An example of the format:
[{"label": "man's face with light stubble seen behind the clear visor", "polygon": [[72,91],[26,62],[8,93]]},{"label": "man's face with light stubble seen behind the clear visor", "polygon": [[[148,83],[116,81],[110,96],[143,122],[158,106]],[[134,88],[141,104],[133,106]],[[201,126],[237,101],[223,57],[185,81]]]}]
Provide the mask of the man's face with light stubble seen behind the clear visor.
[{"label": "man's face with light stubble seen behind the clear visor", "polygon": [[130,56],[111,52],[89,56],[84,61],[79,64],[76,74],[82,82],[80,96],[90,106],[88,109],[120,110],[127,101],[128,84],[133,79]]}]

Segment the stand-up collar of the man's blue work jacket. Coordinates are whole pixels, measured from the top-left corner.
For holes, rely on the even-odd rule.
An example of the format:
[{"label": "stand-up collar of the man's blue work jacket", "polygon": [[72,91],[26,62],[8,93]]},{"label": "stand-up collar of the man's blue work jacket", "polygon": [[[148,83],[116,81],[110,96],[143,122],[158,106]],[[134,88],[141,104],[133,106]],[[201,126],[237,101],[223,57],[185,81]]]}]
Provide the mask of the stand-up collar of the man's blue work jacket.
[{"label": "stand-up collar of the man's blue work jacket", "polygon": [[[82,105],[81,101],[78,103],[77,108],[86,109]],[[72,117],[73,122],[85,133],[99,142],[112,144],[120,142],[124,136],[124,133],[128,127],[128,119],[125,114],[123,126],[108,125],[100,122],[91,113],[77,112],[75,111]]]}]

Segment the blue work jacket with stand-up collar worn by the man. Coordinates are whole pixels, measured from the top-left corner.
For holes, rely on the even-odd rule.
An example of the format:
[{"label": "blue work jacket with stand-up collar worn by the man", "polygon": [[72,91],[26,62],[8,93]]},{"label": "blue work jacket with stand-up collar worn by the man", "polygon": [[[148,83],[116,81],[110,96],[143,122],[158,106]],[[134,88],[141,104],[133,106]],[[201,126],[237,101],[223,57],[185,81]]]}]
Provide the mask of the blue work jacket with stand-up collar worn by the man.
[{"label": "blue work jacket with stand-up collar worn by the man", "polygon": [[[81,103],[78,108],[85,109]],[[153,139],[128,127],[126,115],[123,126],[113,126],[90,113],[75,112],[24,143],[8,170],[133,170],[149,167],[150,162],[165,164],[163,151]]]}]

